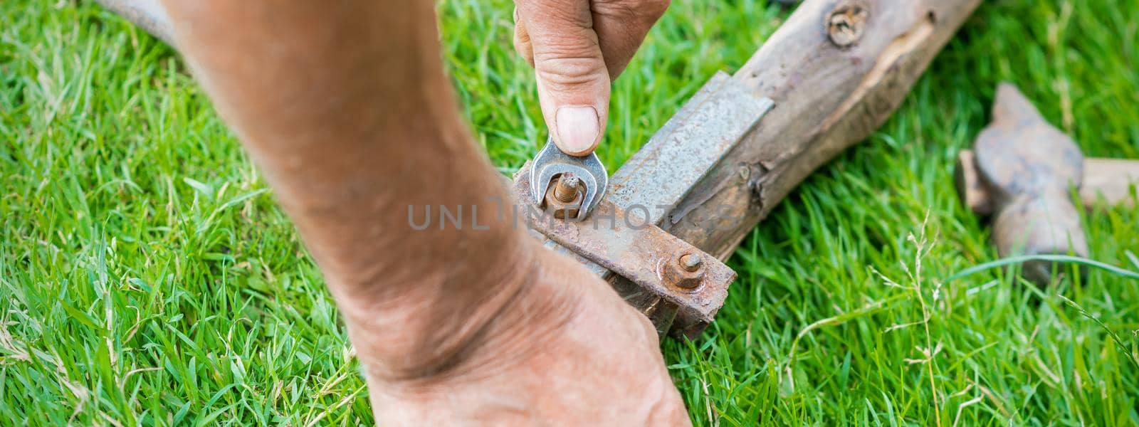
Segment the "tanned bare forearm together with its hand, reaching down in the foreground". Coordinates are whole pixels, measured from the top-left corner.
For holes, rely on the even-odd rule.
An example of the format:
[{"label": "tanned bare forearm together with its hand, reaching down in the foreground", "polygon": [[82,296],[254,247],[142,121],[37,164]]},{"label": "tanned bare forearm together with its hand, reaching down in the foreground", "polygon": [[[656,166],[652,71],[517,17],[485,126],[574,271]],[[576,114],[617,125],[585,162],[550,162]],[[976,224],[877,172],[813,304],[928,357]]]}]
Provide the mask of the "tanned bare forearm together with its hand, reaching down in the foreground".
[{"label": "tanned bare forearm together with its hand, reaching down in the foreground", "polygon": [[[320,264],[380,425],[689,422],[648,321],[493,214],[509,197],[460,120],[432,2],[166,6]],[[425,205],[480,228],[415,230]]]}]

